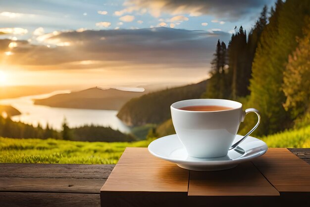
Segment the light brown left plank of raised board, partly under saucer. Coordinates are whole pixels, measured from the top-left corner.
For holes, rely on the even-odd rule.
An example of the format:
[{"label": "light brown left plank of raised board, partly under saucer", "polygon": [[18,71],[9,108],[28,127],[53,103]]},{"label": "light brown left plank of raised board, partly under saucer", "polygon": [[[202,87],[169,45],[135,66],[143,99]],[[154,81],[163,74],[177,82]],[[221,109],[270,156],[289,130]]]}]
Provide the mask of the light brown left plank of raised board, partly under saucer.
[{"label": "light brown left plank of raised board, partly under saucer", "polygon": [[127,147],[101,193],[187,192],[189,171],[151,155],[147,148]]}]

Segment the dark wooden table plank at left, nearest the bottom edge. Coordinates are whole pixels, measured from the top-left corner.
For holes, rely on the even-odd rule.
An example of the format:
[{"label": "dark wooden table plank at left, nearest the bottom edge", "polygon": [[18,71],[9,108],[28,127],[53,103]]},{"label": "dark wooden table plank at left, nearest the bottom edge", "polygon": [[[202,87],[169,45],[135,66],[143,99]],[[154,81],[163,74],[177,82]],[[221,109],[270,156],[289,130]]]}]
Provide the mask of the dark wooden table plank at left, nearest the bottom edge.
[{"label": "dark wooden table plank at left, nearest the bottom edge", "polygon": [[100,207],[99,194],[0,192],[1,207]]}]

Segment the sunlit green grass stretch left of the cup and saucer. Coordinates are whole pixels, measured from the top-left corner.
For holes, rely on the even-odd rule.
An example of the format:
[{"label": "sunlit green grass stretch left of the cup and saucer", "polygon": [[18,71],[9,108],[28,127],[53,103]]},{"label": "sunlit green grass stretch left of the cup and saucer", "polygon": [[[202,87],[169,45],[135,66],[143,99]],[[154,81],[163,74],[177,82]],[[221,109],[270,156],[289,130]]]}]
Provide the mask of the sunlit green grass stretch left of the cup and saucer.
[{"label": "sunlit green grass stretch left of the cup and saucer", "polygon": [[127,146],[147,147],[151,141],[108,143],[0,138],[0,162],[115,164]]}]

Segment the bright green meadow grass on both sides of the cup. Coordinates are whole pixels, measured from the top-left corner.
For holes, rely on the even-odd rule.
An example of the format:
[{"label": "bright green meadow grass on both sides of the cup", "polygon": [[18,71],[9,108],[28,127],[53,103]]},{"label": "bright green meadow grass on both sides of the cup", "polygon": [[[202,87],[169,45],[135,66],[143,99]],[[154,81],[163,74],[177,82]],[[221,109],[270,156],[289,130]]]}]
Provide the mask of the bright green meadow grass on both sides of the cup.
[{"label": "bright green meadow grass on both sides of the cup", "polygon": [[[269,147],[310,147],[310,126],[261,139]],[[0,162],[115,164],[126,147],[147,147],[152,140],[86,142],[52,138],[0,138]]]}]

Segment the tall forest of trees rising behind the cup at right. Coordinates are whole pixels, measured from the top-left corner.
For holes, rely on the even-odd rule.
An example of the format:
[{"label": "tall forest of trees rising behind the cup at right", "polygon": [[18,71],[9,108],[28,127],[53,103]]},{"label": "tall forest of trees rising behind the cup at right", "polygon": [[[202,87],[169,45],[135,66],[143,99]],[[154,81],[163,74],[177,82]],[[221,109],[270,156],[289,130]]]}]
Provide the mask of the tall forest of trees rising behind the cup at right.
[{"label": "tall forest of trees rising behind the cup at right", "polygon": [[[204,98],[240,101],[262,117],[257,135],[310,124],[310,1],[263,7],[249,34],[241,26],[226,47],[218,40]],[[242,126],[246,132],[254,117]]]}]

